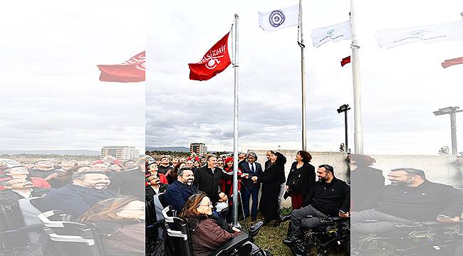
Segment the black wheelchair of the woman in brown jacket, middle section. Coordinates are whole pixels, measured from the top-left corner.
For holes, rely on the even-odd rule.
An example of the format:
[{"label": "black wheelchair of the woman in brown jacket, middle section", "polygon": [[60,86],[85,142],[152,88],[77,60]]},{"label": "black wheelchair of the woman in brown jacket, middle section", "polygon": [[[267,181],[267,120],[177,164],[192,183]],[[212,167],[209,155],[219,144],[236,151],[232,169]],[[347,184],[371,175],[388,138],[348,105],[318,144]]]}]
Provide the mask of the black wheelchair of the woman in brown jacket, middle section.
[{"label": "black wheelchair of the woman in brown jacket, middle section", "polygon": [[[187,222],[176,217],[172,206],[162,210],[167,232],[166,255],[192,256],[192,240],[190,239]],[[249,232],[232,238],[212,252],[212,256],[270,256],[270,252],[262,250],[254,244],[254,237],[259,233],[264,223],[259,222],[249,228]]]}]

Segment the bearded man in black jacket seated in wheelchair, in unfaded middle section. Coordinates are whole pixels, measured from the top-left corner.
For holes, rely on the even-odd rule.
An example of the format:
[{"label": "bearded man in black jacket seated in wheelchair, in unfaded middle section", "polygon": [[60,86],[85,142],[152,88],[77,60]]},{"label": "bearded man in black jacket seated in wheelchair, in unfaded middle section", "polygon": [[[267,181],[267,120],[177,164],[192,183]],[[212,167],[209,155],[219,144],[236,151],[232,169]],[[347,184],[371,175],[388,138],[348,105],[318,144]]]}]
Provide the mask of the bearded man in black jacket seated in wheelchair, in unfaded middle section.
[{"label": "bearded man in black jacket seated in wheelchair, in unfaded middle section", "polygon": [[[340,216],[348,218],[350,210],[350,186],[334,176],[333,166],[322,164],[318,166],[318,181],[308,191],[303,201],[303,208],[291,213],[291,233],[283,240],[286,245],[300,241],[301,225],[305,228],[315,228],[320,224],[320,218]],[[307,218],[312,215],[312,218]]]}]

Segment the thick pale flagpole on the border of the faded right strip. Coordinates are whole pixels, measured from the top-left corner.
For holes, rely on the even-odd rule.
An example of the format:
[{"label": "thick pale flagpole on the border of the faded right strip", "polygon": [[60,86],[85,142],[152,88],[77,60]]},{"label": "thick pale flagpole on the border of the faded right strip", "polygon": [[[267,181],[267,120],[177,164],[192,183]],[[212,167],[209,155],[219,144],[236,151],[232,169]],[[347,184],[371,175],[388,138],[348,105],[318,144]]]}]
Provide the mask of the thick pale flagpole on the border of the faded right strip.
[{"label": "thick pale flagpole on the border of the faded right strip", "polygon": [[354,97],[354,149],[356,154],[363,154],[362,95],[360,87],[360,61],[358,60],[357,35],[355,34],[355,4],[350,0],[350,34],[352,37],[352,80]]}]

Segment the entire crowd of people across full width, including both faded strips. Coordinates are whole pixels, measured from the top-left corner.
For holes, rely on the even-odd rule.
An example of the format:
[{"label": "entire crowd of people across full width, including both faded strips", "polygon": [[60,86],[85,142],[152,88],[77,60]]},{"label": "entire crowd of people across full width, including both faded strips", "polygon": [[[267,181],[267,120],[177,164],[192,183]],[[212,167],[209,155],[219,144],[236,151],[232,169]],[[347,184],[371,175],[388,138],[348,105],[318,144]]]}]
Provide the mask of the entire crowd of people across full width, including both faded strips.
[{"label": "entire crowd of people across full width, including both faded strips", "polygon": [[[335,176],[333,166],[322,164],[316,169],[307,151],[297,152],[287,176],[287,159],[281,152],[267,151],[263,166],[257,160],[254,152],[240,153],[238,163],[231,156],[193,153],[154,161],[109,156],[98,161],[1,166],[1,207],[21,216],[14,210],[22,198],[41,197],[42,212],[61,210],[71,220],[100,230],[105,255],[145,254],[147,202],[161,194],[162,205],[172,206],[187,220],[194,255],[209,255],[239,235],[242,230],[231,225],[235,164],[240,218],[256,222],[261,213],[264,225],[279,226],[281,201],[291,197],[291,229],[283,240],[288,246],[300,244],[301,230],[315,228],[321,218],[350,218],[351,206],[355,233],[388,230],[395,223],[415,220],[455,222],[463,212],[462,191],[427,181],[424,171],[393,169],[387,176],[392,185],[385,186],[383,172],[371,167],[375,159],[370,156],[349,156],[350,185],[355,186],[352,199],[350,185]],[[379,221],[364,223],[371,218]],[[105,223],[118,225],[108,228]],[[9,225],[14,229],[24,223],[12,218]]]}]

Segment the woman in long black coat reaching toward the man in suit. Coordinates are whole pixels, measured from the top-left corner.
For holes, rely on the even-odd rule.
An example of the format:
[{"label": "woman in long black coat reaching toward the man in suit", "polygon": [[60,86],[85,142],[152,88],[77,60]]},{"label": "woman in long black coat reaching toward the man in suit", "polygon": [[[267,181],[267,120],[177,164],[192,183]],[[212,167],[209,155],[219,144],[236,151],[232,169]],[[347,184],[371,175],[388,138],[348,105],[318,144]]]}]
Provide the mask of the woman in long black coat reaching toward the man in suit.
[{"label": "woman in long black coat reaching toward the man in suit", "polygon": [[274,223],[274,226],[276,226],[279,225],[280,220],[278,197],[280,193],[281,166],[286,163],[286,157],[279,152],[270,152],[270,164],[266,166],[264,175],[261,177],[254,176],[252,180],[262,183],[259,211],[264,215],[264,224],[269,223],[270,220],[276,220]]}]

